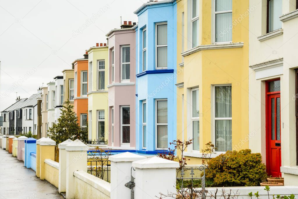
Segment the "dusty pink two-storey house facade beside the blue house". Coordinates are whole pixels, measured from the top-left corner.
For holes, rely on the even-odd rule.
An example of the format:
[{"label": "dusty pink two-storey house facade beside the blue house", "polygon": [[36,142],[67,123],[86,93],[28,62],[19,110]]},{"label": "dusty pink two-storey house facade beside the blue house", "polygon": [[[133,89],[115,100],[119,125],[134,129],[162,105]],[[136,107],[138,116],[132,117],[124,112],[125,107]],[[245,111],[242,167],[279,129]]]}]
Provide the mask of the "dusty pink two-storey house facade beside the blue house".
[{"label": "dusty pink two-storey house facade beside the blue house", "polygon": [[121,29],[113,29],[108,37],[108,147],[135,149],[136,92],[136,25],[125,21]]}]

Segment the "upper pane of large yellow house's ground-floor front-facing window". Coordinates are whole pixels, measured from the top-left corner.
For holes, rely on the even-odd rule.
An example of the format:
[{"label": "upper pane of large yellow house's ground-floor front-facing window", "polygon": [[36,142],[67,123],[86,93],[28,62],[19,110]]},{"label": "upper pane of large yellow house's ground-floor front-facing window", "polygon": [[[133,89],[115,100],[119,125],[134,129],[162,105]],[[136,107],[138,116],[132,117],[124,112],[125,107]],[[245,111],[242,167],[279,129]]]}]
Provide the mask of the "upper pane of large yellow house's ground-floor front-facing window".
[{"label": "upper pane of large yellow house's ground-floor front-facing window", "polygon": [[215,87],[215,117],[231,118],[232,117],[232,95],[231,86]]}]

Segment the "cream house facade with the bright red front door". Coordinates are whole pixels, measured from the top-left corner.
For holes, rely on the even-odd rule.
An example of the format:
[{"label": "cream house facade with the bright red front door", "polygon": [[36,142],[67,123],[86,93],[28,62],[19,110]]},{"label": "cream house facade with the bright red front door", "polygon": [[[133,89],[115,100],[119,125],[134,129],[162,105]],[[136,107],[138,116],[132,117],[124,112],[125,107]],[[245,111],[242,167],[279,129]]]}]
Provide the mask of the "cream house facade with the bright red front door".
[{"label": "cream house facade with the bright red front door", "polygon": [[269,175],[297,185],[298,5],[250,0],[249,8],[249,148]]}]

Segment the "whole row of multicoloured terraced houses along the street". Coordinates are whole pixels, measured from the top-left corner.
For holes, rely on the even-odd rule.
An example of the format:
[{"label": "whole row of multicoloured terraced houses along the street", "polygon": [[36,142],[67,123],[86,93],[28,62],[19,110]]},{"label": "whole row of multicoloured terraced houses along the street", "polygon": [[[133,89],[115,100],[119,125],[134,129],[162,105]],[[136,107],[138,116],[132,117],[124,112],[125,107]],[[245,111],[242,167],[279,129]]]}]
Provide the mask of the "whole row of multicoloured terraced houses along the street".
[{"label": "whole row of multicoloured terraced houses along the street", "polygon": [[[89,145],[156,154],[192,140],[218,154],[259,152],[298,183],[296,0],[149,1],[28,99],[1,112],[2,134],[46,137],[69,99]],[[104,39],[104,38],[102,38]],[[88,124],[88,125],[87,125]]]}]

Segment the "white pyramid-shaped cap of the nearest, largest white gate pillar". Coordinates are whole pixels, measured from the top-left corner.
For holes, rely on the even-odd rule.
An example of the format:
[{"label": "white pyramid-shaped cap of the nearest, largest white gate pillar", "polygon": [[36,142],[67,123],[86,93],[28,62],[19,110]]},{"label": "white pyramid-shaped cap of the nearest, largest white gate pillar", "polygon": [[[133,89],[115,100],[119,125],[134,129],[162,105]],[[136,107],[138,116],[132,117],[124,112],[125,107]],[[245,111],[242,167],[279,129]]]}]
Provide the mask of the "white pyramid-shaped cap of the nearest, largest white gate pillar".
[{"label": "white pyramid-shaped cap of the nearest, largest white gate pillar", "polygon": [[135,161],[133,167],[138,169],[154,169],[154,168],[179,168],[179,163],[159,157],[147,158]]}]

